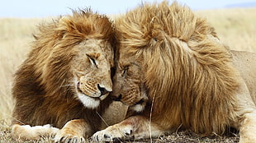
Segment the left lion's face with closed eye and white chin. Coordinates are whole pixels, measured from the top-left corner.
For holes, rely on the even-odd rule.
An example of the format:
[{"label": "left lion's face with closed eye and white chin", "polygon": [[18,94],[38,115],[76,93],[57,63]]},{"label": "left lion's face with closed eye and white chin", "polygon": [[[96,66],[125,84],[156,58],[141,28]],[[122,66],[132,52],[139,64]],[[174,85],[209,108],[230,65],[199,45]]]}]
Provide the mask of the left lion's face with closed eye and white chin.
[{"label": "left lion's face with closed eye and white chin", "polygon": [[112,91],[111,49],[111,44],[102,39],[86,39],[73,48],[76,54],[71,62],[72,84],[75,95],[88,108],[97,108]]}]

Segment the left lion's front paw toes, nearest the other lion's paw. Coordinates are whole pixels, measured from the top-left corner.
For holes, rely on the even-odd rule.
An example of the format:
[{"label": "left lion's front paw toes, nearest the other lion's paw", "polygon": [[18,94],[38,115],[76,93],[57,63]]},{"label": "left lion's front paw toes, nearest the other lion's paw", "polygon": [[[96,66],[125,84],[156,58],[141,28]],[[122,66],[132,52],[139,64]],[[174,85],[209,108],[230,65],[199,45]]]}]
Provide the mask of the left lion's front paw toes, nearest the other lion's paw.
[{"label": "left lion's front paw toes, nearest the other lion's paw", "polygon": [[84,143],[85,139],[83,136],[73,135],[68,131],[59,131],[55,136],[55,143]]}]

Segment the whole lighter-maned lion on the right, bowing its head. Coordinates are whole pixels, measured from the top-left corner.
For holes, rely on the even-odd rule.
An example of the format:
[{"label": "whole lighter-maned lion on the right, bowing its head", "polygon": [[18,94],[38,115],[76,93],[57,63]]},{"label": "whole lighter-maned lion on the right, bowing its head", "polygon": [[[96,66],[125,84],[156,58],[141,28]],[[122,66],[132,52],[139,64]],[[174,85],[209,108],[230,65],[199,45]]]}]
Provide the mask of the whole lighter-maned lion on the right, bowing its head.
[{"label": "whole lighter-maned lion on the right, bowing its head", "polygon": [[95,141],[204,136],[239,130],[256,142],[256,54],[230,51],[215,30],[177,2],[144,5],[116,20],[113,95],[136,113],[97,131]]}]

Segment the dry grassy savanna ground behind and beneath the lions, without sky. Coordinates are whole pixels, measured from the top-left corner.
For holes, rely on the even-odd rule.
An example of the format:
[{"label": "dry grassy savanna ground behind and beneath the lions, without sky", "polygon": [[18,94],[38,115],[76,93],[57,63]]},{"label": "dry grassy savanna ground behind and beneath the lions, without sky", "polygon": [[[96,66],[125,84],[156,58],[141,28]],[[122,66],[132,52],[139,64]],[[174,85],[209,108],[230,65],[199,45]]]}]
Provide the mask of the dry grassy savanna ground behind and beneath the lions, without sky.
[{"label": "dry grassy savanna ground behind and beneath the lions, without sky", "polygon": [[[197,15],[216,28],[220,40],[231,49],[256,52],[256,8],[220,9],[200,11]],[[36,25],[51,18],[37,19],[0,19],[0,143],[21,142],[11,136],[9,127],[12,119],[13,101],[11,97],[12,76],[17,67],[26,58],[29,46],[36,32]],[[138,142],[150,142],[138,141]],[[230,133],[227,136],[202,137],[189,131],[177,131],[169,135],[159,136],[153,142],[238,142],[239,136]],[[50,137],[42,137],[40,141],[53,142]],[[91,141],[89,141],[91,142]]]}]

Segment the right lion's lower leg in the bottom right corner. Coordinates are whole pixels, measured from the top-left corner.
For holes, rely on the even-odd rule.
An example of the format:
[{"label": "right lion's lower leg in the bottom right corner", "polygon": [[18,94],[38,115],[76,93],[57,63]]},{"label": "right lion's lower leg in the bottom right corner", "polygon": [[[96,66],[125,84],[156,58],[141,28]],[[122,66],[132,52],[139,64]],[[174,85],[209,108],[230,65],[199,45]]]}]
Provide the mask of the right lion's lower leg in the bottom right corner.
[{"label": "right lion's lower leg in the bottom right corner", "polygon": [[239,135],[239,143],[256,142],[256,111],[244,114],[244,121],[241,123]]}]

